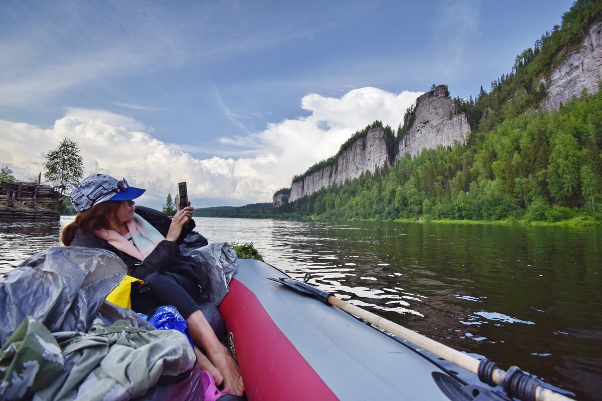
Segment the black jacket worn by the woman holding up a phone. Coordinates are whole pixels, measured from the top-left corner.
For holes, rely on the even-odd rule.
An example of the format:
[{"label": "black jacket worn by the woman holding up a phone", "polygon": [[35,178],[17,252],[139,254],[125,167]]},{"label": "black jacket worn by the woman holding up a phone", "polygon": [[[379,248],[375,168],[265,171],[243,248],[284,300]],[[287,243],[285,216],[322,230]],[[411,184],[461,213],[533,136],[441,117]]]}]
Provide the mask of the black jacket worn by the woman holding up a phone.
[{"label": "black jacket worn by the woman holding up a phone", "polygon": [[[136,206],[136,213],[144,220],[149,222],[153,227],[157,228],[157,230],[163,236],[167,235],[167,231],[169,231],[169,225],[172,224],[172,219],[170,219],[166,214],[144,206]],[[123,260],[123,263],[128,266],[128,275],[139,278],[140,280],[144,280],[147,275],[158,271],[178,272],[182,269],[185,269],[186,271],[190,272],[190,263],[194,263],[194,260],[180,256],[180,249],[178,245],[184,242],[184,238],[190,234],[195,226],[196,224],[193,220],[191,220],[184,228],[182,228],[182,233],[180,234],[177,242],[163,240],[158,243],[151,254],[144,259],[144,262],[129,254],[123,253],[108,243],[107,240],[96,236],[93,233],[78,231],[70,245],[85,246],[86,248],[107,249],[108,251],[111,251],[119,256],[121,260]],[[197,277],[202,274],[200,269],[193,270]],[[199,281],[206,280],[204,275],[203,277],[198,278]]]}]

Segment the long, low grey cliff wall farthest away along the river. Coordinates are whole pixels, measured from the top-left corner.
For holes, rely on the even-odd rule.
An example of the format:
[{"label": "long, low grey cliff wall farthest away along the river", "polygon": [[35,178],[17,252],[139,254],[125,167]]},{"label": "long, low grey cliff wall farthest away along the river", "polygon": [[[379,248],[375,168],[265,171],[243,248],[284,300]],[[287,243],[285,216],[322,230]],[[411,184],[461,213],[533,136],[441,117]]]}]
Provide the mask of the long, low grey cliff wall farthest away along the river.
[{"label": "long, low grey cliff wall farthest away along the river", "polygon": [[341,152],[337,164],[328,165],[294,182],[288,201],[293,202],[332,184],[358,178],[365,171],[374,173],[376,168],[389,165],[392,159],[393,155],[389,155],[386,148],[385,130],[382,127],[370,129],[364,138],[358,138]]}]

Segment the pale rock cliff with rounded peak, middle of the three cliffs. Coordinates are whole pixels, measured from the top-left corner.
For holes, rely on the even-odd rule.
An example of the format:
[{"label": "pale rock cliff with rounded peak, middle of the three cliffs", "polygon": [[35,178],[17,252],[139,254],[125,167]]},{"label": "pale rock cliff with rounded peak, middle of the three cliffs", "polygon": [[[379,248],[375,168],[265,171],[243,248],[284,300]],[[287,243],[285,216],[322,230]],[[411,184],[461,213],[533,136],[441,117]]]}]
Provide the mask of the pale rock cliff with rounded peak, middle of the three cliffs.
[{"label": "pale rock cliff with rounded peak, middle of the three cliffs", "polygon": [[456,114],[455,103],[447,97],[447,87],[439,85],[432,92],[418,97],[414,124],[399,142],[396,160],[405,153],[418,155],[424,148],[464,143],[470,125],[464,113]]}]

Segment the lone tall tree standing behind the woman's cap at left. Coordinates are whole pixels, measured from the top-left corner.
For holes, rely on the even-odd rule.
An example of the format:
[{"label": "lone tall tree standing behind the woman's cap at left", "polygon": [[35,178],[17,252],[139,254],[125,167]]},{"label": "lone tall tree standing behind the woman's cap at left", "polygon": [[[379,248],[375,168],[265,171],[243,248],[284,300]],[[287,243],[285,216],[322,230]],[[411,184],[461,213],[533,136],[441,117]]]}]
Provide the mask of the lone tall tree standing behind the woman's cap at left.
[{"label": "lone tall tree standing behind the woman's cap at left", "polygon": [[61,195],[67,189],[78,185],[84,177],[84,165],[75,141],[65,137],[54,150],[46,155],[44,178],[60,190]]}]

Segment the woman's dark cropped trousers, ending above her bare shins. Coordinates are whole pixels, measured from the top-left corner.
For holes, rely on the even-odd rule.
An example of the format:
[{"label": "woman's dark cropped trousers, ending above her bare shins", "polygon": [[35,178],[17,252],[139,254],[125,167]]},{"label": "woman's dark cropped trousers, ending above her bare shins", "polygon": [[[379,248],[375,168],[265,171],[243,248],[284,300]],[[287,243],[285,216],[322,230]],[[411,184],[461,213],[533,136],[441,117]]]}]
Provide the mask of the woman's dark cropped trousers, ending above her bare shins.
[{"label": "woman's dark cropped trousers, ending above her bare shins", "polygon": [[150,314],[155,308],[172,305],[178,308],[184,319],[188,319],[200,310],[196,303],[198,295],[199,284],[194,274],[187,271],[154,272],[144,278],[144,284],[138,290],[132,288],[132,310]]}]

